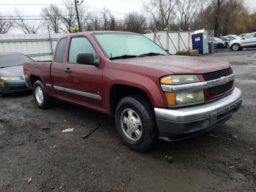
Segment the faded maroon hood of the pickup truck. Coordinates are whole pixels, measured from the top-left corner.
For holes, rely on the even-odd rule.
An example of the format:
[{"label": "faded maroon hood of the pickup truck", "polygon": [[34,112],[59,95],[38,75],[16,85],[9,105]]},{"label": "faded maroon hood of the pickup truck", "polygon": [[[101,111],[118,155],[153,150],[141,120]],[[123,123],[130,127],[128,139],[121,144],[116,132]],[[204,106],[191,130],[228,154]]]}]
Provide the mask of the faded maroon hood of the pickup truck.
[{"label": "faded maroon hood of the pickup truck", "polygon": [[230,68],[230,64],[225,61],[212,60],[210,58],[158,55],[148,57],[137,57],[128,59],[118,59],[116,62],[133,63],[161,68],[173,72],[174,74],[204,74],[218,70]]}]

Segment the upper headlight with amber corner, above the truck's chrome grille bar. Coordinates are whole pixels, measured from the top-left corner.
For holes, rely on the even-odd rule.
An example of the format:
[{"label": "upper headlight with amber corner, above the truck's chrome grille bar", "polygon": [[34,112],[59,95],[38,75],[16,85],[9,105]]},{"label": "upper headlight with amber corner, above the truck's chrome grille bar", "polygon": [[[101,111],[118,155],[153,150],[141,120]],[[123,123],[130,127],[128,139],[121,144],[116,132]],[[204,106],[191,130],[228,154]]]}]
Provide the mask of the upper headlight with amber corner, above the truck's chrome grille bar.
[{"label": "upper headlight with amber corner, above the truck's chrome grille bar", "polygon": [[178,85],[196,82],[199,82],[196,75],[170,75],[160,79],[160,83],[165,85]]}]

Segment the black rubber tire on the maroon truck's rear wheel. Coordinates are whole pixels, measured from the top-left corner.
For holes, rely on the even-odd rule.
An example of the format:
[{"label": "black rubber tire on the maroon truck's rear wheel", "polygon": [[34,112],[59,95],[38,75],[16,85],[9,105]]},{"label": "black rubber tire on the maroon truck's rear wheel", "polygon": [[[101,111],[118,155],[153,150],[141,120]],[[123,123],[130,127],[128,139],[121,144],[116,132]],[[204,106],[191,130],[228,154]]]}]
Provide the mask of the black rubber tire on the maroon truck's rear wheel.
[{"label": "black rubber tire on the maroon truck's rear wheel", "polygon": [[[36,91],[37,91],[37,88],[41,89],[42,90],[42,96],[43,96],[43,99],[42,99],[42,102],[40,103],[40,101],[36,98]],[[33,86],[33,95],[34,95],[34,100],[37,104],[37,106],[40,108],[40,109],[46,109],[46,108],[49,108],[51,105],[52,105],[52,102],[53,102],[53,98],[48,96],[46,94],[46,91],[44,89],[44,85],[42,84],[42,82],[40,80],[37,80],[35,83],[34,83],[34,86]]]}]

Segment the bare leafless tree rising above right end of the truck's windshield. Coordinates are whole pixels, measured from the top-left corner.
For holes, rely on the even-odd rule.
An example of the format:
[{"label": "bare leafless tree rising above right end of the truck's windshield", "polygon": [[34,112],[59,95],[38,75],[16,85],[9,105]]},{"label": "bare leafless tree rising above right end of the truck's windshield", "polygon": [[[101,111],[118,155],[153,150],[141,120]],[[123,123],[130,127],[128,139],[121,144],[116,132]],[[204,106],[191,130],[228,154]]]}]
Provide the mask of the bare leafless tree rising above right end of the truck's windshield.
[{"label": "bare leafless tree rising above right end of the truck's windshield", "polygon": [[144,4],[144,9],[152,16],[152,19],[158,27],[167,27],[171,20],[174,19],[174,8],[177,0],[150,0]]}]

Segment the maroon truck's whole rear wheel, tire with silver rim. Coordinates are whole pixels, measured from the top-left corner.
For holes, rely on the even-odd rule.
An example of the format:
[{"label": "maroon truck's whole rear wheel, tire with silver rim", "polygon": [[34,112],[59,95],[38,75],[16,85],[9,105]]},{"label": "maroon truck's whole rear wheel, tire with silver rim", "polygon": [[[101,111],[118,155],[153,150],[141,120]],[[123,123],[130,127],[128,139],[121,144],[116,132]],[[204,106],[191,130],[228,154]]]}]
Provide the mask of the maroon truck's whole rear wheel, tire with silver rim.
[{"label": "maroon truck's whole rear wheel, tire with silver rim", "polygon": [[37,80],[33,86],[34,100],[37,106],[41,109],[46,109],[52,105],[53,98],[46,94],[44,85],[40,80]]}]

